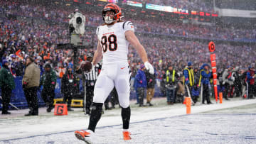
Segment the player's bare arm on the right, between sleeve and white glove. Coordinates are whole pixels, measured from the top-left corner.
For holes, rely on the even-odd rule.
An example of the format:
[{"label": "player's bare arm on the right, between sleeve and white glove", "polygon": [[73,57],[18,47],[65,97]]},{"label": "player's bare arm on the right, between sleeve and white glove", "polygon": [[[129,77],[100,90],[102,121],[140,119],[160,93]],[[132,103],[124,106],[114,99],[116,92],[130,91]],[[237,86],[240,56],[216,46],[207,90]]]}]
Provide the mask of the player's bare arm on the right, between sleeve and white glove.
[{"label": "player's bare arm on the right, between sleeve and white glove", "polygon": [[133,31],[126,31],[125,37],[129,41],[129,43],[137,50],[139,57],[142,58],[143,62],[148,62],[148,57],[146,55],[146,50],[142,46],[142,44],[139,42],[137,36],[134,34]]}]

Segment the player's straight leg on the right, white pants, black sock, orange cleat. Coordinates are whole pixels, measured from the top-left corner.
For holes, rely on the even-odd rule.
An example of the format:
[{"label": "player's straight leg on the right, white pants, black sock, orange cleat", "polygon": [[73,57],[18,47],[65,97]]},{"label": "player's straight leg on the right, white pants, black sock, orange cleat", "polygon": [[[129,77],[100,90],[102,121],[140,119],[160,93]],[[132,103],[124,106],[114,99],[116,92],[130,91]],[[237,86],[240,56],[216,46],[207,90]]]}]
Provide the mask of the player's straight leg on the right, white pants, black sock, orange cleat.
[{"label": "player's straight leg on the right, white pants, black sock, orange cleat", "polygon": [[[129,68],[128,68],[129,69]],[[129,83],[129,70],[126,74],[119,74],[119,76],[114,79],[114,84],[117,89],[119,104],[122,107],[122,121],[123,121],[123,135],[124,140],[130,140],[129,136],[129,120],[131,117],[131,109],[129,107],[129,94],[130,94],[130,83]]]}]

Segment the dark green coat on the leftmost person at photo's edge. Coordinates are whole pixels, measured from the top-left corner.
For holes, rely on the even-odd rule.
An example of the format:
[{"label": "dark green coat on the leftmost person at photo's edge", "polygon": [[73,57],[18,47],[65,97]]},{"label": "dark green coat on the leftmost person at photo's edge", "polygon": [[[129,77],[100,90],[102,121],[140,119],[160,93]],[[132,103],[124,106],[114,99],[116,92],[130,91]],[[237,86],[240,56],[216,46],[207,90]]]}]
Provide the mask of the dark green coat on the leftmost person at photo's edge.
[{"label": "dark green coat on the leftmost person at photo's edge", "polygon": [[15,89],[14,77],[6,67],[2,67],[0,70],[0,87],[1,89]]}]

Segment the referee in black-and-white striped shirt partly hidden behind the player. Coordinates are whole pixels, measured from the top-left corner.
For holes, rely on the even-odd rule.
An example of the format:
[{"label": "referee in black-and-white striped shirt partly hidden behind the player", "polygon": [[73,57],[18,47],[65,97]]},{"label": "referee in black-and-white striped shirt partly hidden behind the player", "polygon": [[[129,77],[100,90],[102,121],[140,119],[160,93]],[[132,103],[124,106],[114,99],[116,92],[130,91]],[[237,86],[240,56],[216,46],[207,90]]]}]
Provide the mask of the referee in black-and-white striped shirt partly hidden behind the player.
[{"label": "referee in black-and-white striped shirt partly hidden behind the player", "polygon": [[[92,62],[93,54],[92,52],[87,53],[87,60]],[[97,79],[98,72],[100,70],[100,65],[97,64],[95,67],[87,73],[83,74],[83,78],[85,80],[85,114],[90,116],[90,107],[92,106],[92,99],[93,99],[93,90],[95,87],[95,82]]]}]

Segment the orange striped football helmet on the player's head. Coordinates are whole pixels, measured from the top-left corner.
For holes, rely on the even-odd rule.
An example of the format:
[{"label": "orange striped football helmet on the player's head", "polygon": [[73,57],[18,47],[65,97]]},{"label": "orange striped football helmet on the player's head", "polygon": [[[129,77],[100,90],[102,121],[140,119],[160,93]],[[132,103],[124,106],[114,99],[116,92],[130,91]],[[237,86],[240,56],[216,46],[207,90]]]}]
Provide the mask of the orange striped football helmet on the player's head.
[{"label": "orange striped football helmet on the player's head", "polygon": [[[107,11],[113,11],[114,18],[106,18]],[[117,4],[107,4],[102,10],[102,18],[107,24],[113,23],[114,21],[119,21],[122,18],[122,11]]]}]

